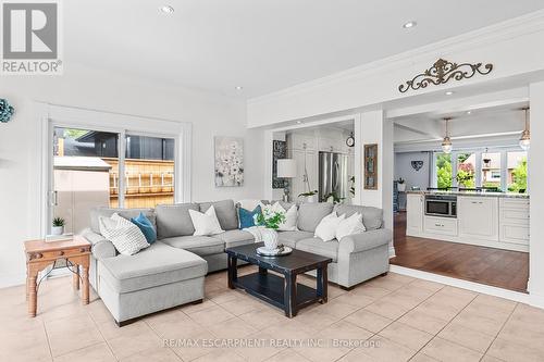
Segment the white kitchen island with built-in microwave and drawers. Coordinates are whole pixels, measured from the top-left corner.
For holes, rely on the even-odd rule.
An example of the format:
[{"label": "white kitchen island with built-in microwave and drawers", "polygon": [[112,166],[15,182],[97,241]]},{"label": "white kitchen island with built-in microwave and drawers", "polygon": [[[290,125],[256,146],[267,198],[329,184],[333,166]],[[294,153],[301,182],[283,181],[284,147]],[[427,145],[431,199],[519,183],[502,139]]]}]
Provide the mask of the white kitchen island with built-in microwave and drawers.
[{"label": "white kitchen island with built-in microwave and drawers", "polygon": [[529,251],[529,195],[407,191],[406,235]]}]

